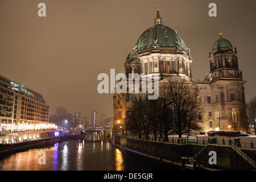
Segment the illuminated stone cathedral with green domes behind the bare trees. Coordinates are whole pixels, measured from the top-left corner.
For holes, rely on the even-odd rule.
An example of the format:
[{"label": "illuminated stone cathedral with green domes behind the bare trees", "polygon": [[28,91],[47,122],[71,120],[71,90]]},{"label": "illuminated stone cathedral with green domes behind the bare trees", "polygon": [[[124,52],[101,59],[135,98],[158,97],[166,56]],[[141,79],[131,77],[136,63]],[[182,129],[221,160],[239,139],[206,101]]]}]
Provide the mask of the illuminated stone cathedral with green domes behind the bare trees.
[{"label": "illuminated stone cathedral with green domes behind the bare trees", "polygon": [[[125,61],[125,73],[144,73],[159,76],[159,82],[176,76],[196,84],[203,113],[204,132],[213,130],[241,130],[245,113],[245,88],[242,72],[238,67],[237,48],[229,40],[220,38],[209,52],[210,74],[204,81],[192,78],[190,49],[176,31],[163,25],[159,9],[155,25],[139,37]],[[138,94],[115,93],[113,128],[119,129],[126,119],[126,110]]]}]

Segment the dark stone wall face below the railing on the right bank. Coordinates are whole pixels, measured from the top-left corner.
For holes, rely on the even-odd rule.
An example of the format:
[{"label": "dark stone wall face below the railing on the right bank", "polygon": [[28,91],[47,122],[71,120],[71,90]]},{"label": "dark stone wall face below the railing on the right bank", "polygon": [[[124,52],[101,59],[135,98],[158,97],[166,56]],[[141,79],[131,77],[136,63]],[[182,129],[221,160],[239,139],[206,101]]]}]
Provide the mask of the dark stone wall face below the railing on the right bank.
[{"label": "dark stone wall face below the railing on the right bank", "polygon": [[[175,144],[166,142],[154,142],[141,139],[124,138],[115,135],[114,141],[122,147],[129,148],[144,154],[156,156],[163,159],[172,160],[181,163],[181,157],[193,157],[197,152],[203,149],[203,145],[196,144]],[[210,158],[209,151],[216,151],[217,165],[210,165],[208,160]],[[243,150],[251,159],[256,158],[256,150]],[[199,161],[205,167],[228,169],[228,170],[245,170],[253,169],[251,165],[237,154],[230,146],[217,146],[209,144],[199,153]]]}]

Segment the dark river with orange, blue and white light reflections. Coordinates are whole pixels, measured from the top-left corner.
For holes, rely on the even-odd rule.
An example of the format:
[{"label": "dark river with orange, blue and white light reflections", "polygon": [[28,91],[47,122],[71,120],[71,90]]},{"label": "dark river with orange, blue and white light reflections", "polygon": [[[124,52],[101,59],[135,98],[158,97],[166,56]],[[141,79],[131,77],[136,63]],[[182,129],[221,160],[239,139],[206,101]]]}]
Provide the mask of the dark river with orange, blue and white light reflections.
[{"label": "dark river with orange, blue and white light reflections", "polygon": [[[92,138],[92,139],[90,139]],[[46,164],[39,164],[42,151]],[[179,170],[169,163],[160,163],[113,147],[108,138],[97,134],[84,140],[67,140],[51,146],[35,148],[0,157],[0,170]]]}]

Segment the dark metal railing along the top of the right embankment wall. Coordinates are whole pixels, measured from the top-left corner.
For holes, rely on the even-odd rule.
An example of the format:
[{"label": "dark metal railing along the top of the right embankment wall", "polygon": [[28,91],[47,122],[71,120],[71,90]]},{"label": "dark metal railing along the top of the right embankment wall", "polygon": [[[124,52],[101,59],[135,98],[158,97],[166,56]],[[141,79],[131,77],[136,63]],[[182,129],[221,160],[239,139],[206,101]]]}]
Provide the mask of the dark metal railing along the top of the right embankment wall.
[{"label": "dark metal railing along the top of the right embankment wall", "polygon": [[[178,138],[168,138],[168,141],[164,140],[164,137],[148,137],[146,139],[146,136],[141,136],[141,138],[139,138],[138,135],[122,135],[122,134],[118,134],[120,137],[124,137],[124,138],[130,138],[130,139],[140,139],[140,140],[148,140],[148,141],[154,141],[154,142],[166,142],[166,143],[175,143],[175,144],[190,144],[187,141],[187,138],[183,138],[182,141],[179,140]],[[214,144],[214,145],[224,145],[224,146],[231,146],[232,143],[234,145],[236,145],[239,148],[251,148],[251,149],[256,149],[256,143],[253,143],[252,141],[249,142],[234,142],[233,140],[229,139],[229,140],[225,140],[225,139],[217,139],[217,138],[208,138],[208,139],[203,139],[203,140],[199,140],[198,144],[201,145],[205,145],[205,144]]]}]

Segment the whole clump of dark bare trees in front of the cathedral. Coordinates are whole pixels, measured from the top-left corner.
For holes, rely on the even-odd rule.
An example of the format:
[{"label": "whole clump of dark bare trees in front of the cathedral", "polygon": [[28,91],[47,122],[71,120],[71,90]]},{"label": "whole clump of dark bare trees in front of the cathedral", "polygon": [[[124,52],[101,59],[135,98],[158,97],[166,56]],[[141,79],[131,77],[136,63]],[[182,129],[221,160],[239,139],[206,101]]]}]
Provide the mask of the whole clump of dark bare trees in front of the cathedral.
[{"label": "whole clump of dark bare trees in front of the cathedral", "polygon": [[[139,94],[138,94],[139,95]],[[142,96],[142,95],[139,95]],[[201,109],[196,102],[197,89],[192,82],[179,77],[171,77],[159,85],[157,100],[138,97],[127,111],[127,130],[144,134],[146,139],[152,131],[168,141],[168,135],[176,133],[181,138],[191,130],[200,131],[202,122],[199,119]]]}]

